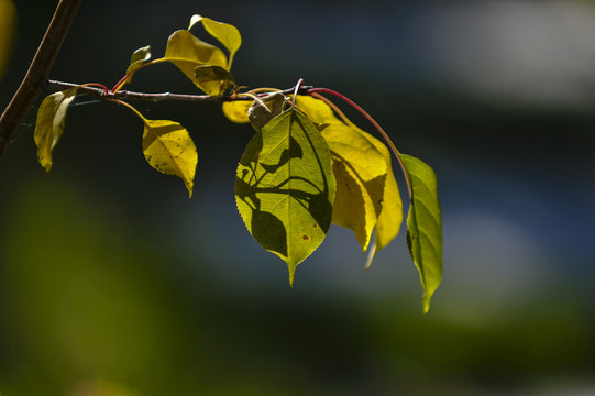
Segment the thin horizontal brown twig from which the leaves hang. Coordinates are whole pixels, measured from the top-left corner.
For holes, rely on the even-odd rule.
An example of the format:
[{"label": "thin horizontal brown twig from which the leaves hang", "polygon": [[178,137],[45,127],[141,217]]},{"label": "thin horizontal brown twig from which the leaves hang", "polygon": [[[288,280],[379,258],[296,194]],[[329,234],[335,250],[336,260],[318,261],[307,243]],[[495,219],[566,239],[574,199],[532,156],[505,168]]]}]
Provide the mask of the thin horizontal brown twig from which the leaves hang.
[{"label": "thin horizontal brown twig from which the leaves hang", "polygon": [[[115,92],[97,88],[97,86],[86,86],[86,85],[78,85],[73,82],[64,82],[64,81],[56,81],[56,80],[48,80],[46,86],[44,87],[45,90],[48,91],[58,91],[64,90],[68,88],[78,88],[78,94],[87,94],[92,96],[102,97],[106,99],[124,99],[124,100],[148,100],[148,101],[162,101],[162,100],[179,100],[179,101],[196,101],[196,102],[203,102],[203,101],[214,101],[214,102],[224,102],[224,101],[233,101],[233,100],[253,100],[247,95],[222,95],[222,96],[210,96],[210,95],[188,95],[188,94],[172,94],[172,92],[158,92],[158,94],[150,94],[150,92],[134,92],[129,90],[119,90]],[[300,86],[298,94],[306,95],[309,89],[312,87],[310,86]],[[290,95],[294,94],[295,88],[288,88],[285,90],[282,90],[282,94]],[[257,96],[265,96],[268,92],[265,94],[258,94]]]}]

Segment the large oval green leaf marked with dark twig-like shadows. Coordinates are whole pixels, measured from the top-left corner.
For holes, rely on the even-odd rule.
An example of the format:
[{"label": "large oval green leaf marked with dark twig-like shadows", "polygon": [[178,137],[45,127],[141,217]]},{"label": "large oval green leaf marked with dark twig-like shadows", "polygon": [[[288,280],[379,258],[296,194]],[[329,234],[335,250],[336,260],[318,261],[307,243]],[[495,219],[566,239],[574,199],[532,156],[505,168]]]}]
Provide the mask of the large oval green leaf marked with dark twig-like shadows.
[{"label": "large oval green leaf marked with dark twig-like shadows", "polygon": [[335,184],[329,147],[316,127],[288,109],[249,142],[238,167],[235,201],[250,233],[296,266],[331,224]]}]

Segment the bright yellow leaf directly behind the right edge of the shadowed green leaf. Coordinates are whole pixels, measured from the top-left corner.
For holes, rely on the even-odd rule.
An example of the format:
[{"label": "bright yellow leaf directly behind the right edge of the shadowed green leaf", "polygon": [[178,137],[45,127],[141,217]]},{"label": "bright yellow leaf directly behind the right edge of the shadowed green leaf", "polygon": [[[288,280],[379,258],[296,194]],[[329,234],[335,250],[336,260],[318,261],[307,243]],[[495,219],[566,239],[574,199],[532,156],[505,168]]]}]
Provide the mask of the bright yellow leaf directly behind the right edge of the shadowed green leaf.
[{"label": "bright yellow leaf directly behind the right edge of the shadowed green leaf", "polygon": [[387,163],[376,144],[384,145],[354,124],[339,120],[320,99],[298,96],[297,103],[312,121],[323,125],[322,136],[332,153],[337,179],[332,222],[353,230],[365,252],[383,210]]}]

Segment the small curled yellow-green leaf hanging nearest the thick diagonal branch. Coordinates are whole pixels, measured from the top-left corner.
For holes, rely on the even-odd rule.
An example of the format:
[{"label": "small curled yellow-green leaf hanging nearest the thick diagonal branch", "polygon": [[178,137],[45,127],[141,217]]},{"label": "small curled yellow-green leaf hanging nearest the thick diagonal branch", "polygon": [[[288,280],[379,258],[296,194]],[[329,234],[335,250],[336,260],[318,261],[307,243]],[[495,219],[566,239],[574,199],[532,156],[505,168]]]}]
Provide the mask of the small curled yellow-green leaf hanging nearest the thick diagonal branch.
[{"label": "small curled yellow-green leaf hanging nearest the thick diagonal branch", "polygon": [[45,172],[52,169],[52,152],[62,136],[66,112],[75,99],[76,92],[77,88],[70,88],[52,94],[42,101],[37,110],[33,136],[37,146],[37,160]]}]

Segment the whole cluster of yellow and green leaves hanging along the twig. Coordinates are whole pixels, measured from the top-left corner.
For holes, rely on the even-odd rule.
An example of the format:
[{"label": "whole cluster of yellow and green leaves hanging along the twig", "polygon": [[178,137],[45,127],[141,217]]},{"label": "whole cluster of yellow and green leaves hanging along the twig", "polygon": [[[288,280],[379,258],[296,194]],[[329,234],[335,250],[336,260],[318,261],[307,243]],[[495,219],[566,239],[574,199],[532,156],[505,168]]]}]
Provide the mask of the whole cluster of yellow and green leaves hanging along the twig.
[{"label": "whole cluster of yellow and green leaves hanging along the twig", "polygon": [[[196,24],[217,38],[227,54],[197,38],[190,32]],[[328,89],[305,90],[301,80],[294,94],[239,87],[230,69],[241,43],[234,26],[194,15],[187,30],[169,36],[163,57],[151,61],[150,46],[136,50],[125,75],[111,90],[104,88],[104,97],[130,108],[142,120],[146,162],[158,172],[179,177],[190,196],[198,153],[189,132],[175,121],[146,119],[110,94],[122,89],[144,67],[167,62],[198,89],[219,97],[229,120],[253,127],[255,133],[238,165],[235,201],[254,239],[287,263],[290,284],[297,265],[322,243],[331,223],[353,231],[367,253],[366,267],[398,235],[404,208],[393,173],[392,150],[410,196],[406,239],[425,290],[423,309],[428,311],[442,276],[441,212],[432,169],[420,160],[400,154],[373,119],[390,150],[356,127],[321,95]],[[77,89],[49,95],[40,107],[34,136],[40,164],[47,172]],[[330,92],[360,109],[342,95]]]}]

